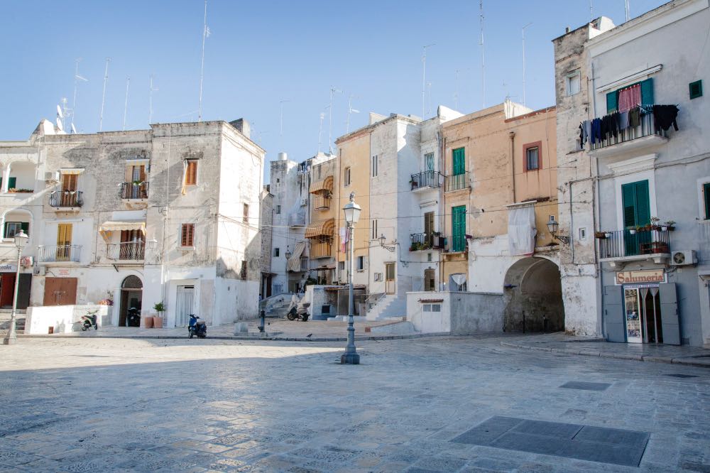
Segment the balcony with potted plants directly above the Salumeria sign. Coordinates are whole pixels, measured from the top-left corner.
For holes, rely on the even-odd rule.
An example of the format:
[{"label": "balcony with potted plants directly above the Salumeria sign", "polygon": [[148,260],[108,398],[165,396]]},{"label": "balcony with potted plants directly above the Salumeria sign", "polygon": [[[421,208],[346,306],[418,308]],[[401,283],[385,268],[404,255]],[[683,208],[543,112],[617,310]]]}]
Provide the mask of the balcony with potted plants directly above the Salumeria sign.
[{"label": "balcony with potted plants directly above the Salumeria sign", "polygon": [[[607,236],[608,235],[608,236]],[[616,261],[652,259],[662,263],[670,258],[670,231],[662,229],[606,232],[599,238],[599,261],[616,266]]]}]

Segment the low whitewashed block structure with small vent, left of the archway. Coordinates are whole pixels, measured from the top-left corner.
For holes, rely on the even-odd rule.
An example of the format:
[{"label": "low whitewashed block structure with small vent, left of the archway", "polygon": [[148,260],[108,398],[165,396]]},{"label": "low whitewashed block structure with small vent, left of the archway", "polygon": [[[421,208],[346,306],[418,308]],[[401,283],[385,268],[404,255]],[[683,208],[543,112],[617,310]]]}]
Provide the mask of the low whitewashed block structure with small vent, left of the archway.
[{"label": "low whitewashed block structure with small vent, left of the archway", "polygon": [[503,332],[503,308],[501,294],[407,293],[407,320],[421,333]]}]

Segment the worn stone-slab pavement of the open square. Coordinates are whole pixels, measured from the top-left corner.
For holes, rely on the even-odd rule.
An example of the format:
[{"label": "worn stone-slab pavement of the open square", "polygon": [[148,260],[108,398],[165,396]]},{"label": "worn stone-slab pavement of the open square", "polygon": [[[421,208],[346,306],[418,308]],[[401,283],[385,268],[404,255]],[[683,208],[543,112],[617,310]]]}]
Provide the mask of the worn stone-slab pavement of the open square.
[{"label": "worn stone-slab pavement of the open square", "polygon": [[[0,471],[710,471],[709,370],[503,339],[366,341],[359,366],[339,343],[21,339]],[[650,437],[639,467],[451,441],[496,416]]]}]

